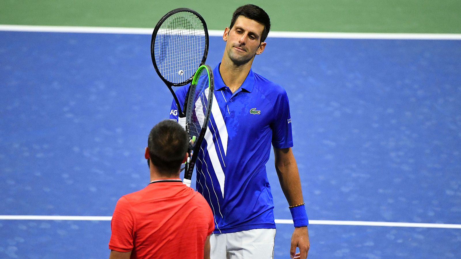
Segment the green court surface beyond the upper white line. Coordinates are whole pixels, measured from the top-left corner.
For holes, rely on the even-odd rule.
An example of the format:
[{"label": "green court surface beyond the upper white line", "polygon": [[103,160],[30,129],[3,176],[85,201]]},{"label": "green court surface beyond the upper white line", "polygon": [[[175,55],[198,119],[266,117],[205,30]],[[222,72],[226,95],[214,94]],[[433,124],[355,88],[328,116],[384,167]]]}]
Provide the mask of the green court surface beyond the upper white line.
[{"label": "green court surface beyond the upper white line", "polygon": [[[0,24],[153,28],[171,9],[189,7],[209,29],[224,29],[246,0],[3,0]],[[254,0],[274,31],[461,33],[460,0]]]}]

